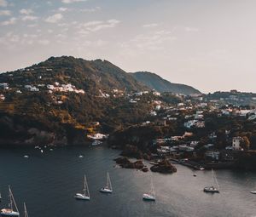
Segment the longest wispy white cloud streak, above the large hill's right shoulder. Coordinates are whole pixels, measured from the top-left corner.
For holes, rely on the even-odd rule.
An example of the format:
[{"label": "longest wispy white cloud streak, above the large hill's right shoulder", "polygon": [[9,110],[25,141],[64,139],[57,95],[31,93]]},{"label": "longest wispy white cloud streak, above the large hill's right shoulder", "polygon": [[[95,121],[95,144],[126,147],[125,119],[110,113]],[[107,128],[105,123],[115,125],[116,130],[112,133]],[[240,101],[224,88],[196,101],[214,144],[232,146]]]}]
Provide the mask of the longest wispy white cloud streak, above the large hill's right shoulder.
[{"label": "longest wispy white cloud streak, above the large hill's right shoulder", "polygon": [[113,28],[120,23],[119,20],[107,20],[107,21],[90,21],[84,23],[81,27],[84,27],[84,31],[100,31],[106,28]]}]

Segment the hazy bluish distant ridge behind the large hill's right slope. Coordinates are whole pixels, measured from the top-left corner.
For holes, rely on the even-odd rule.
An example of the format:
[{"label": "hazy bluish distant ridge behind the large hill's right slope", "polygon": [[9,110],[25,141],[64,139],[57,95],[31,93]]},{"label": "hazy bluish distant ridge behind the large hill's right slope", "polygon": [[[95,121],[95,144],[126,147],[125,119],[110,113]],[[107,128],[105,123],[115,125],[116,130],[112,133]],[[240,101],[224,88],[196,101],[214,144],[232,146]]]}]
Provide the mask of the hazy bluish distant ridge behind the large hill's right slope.
[{"label": "hazy bluish distant ridge behind the large hill's right slope", "polygon": [[148,71],[137,71],[130,73],[138,82],[143,83],[149,89],[159,92],[172,92],[174,94],[201,94],[198,89],[181,83],[171,83],[162,77]]}]

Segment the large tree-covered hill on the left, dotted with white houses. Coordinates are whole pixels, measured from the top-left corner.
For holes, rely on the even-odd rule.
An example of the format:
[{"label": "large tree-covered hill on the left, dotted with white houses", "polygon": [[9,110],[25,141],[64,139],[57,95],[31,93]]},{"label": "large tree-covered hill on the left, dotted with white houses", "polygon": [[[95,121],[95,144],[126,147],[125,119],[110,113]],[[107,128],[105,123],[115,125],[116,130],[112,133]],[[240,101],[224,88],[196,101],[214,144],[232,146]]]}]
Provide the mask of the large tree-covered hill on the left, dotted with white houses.
[{"label": "large tree-covered hill on the left, dotted with white houses", "polygon": [[149,96],[129,101],[149,89],[107,60],[51,57],[0,74],[0,84],[0,145],[83,144],[86,134],[143,122],[150,110]]}]

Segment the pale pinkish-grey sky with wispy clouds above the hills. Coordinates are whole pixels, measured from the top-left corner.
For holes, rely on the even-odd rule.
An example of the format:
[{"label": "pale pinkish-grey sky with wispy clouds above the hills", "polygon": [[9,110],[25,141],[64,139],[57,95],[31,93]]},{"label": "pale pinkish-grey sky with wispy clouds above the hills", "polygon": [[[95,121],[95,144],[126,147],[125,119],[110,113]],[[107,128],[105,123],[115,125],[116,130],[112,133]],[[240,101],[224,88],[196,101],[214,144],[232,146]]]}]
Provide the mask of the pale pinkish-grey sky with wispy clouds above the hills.
[{"label": "pale pinkish-grey sky with wispy clouds above the hills", "polygon": [[255,0],[0,0],[0,71],[109,60],[203,93],[256,93]]}]

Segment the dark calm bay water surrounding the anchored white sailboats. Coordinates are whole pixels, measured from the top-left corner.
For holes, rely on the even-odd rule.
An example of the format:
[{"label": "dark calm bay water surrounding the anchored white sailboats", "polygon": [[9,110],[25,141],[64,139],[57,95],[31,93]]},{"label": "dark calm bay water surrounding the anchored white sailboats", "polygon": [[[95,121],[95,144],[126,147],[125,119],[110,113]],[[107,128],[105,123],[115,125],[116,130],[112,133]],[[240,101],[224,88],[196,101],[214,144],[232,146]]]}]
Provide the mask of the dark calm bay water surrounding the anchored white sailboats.
[{"label": "dark calm bay water surrounding the anchored white sailboats", "polygon": [[[29,155],[28,159],[23,155]],[[84,158],[79,158],[83,154]],[[72,147],[45,150],[0,150],[0,191],[6,206],[8,185],[23,216],[22,203],[30,217],[84,216],[256,216],[256,174],[230,170],[216,171],[220,194],[206,194],[204,186],[212,182],[210,171],[193,171],[177,165],[176,174],[152,174],[156,202],[143,202],[150,173],[114,168],[119,151],[104,147]],[[98,190],[109,172],[113,194]],[[90,201],[76,201],[86,173]]]}]

